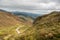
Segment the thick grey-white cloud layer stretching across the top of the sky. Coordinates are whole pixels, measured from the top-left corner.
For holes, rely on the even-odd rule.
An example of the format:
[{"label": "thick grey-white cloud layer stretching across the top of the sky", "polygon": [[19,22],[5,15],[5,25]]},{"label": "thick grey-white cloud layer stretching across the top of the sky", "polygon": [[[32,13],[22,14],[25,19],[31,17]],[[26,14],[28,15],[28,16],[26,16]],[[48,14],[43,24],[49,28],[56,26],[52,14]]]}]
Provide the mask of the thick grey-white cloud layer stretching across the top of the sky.
[{"label": "thick grey-white cloud layer stretching across the top of the sky", "polygon": [[[59,4],[59,0],[2,0],[0,1],[1,7],[7,6],[11,8],[21,8],[28,10],[40,10],[40,9],[56,9]],[[58,5],[58,6],[57,6]],[[25,7],[25,8],[24,8]]]}]

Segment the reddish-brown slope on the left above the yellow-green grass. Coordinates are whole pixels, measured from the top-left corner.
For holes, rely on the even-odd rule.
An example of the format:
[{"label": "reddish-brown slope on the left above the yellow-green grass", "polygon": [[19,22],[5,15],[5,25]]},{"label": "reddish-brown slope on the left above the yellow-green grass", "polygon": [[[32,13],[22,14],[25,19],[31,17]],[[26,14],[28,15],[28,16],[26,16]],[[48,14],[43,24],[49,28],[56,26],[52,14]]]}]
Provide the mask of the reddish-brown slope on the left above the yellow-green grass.
[{"label": "reddish-brown slope on the left above the yellow-green grass", "polygon": [[23,22],[19,17],[9,12],[0,11],[0,27],[14,26]]}]

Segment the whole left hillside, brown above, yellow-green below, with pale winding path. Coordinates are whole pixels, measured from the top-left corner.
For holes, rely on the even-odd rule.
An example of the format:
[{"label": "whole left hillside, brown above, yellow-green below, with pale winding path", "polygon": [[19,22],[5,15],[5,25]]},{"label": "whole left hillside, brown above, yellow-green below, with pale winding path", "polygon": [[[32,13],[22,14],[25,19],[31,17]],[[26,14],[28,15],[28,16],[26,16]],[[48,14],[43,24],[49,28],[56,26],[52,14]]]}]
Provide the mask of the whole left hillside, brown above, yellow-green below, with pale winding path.
[{"label": "whole left hillside, brown above, yellow-green below, with pale winding path", "polygon": [[19,36],[19,33],[23,35],[24,31],[32,25],[30,20],[27,21],[26,17],[24,19],[22,16],[15,16],[11,12],[0,11],[0,40],[13,40],[15,36]]}]

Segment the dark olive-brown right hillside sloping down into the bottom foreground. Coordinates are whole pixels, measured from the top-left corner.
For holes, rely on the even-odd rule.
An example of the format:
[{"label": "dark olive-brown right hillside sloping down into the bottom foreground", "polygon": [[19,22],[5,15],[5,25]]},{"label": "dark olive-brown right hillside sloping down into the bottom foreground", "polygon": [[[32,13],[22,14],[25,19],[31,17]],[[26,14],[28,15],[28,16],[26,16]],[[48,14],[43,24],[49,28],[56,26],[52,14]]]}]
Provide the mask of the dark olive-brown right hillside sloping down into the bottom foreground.
[{"label": "dark olive-brown right hillside sloping down into the bottom foreground", "polygon": [[16,40],[60,40],[60,12],[37,17],[33,26]]}]

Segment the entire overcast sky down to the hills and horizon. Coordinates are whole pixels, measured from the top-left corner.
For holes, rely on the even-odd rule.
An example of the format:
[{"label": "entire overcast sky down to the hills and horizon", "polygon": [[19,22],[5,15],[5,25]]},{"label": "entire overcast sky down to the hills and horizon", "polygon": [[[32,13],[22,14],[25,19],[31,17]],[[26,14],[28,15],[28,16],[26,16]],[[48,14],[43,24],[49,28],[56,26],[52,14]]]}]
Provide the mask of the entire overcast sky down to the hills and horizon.
[{"label": "entire overcast sky down to the hills and horizon", "polygon": [[47,14],[60,11],[60,0],[0,0],[0,9]]}]

